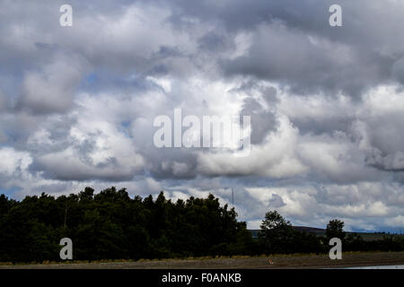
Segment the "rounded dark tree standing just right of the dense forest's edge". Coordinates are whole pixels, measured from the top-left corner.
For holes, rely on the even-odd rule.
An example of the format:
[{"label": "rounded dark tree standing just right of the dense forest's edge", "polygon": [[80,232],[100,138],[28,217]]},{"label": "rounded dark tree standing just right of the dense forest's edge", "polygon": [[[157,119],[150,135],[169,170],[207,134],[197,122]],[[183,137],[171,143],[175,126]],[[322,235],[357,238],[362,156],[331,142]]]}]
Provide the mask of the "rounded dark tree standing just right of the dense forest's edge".
[{"label": "rounded dark tree standing just right of the dense forest's edge", "polygon": [[288,253],[291,250],[292,224],[277,211],[266,213],[260,228],[259,239],[265,247],[265,253]]}]

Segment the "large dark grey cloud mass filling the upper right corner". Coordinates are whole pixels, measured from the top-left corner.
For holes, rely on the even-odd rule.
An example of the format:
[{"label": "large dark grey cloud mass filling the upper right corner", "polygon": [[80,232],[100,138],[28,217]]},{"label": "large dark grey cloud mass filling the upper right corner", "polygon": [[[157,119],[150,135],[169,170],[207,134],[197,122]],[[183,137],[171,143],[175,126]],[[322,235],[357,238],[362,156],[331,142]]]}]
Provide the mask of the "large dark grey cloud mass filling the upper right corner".
[{"label": "large dark grey cloud mass filling the upper right corner", "polygon": [[177,17],[191,14],[230,33],[259,30],[248,55],[224,61],[227,74],[279,81],[297,93],[342,91],[352,96],[380,83],[403,83],[400,2],[338,1],[343,8],[338,30],[327,25],[335,1],[225,3],[180,1]]}]

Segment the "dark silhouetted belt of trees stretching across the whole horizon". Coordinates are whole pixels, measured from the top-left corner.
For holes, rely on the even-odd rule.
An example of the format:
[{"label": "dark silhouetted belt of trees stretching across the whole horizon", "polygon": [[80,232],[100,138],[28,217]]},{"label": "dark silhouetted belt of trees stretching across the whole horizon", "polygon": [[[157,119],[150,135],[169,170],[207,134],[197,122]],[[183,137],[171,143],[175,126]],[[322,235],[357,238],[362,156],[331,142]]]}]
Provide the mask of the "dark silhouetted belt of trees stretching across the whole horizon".
[{"label": "dark silhouetted belt of trees stretching across the whole horizon", "polygon": [[404,240],[367,242],[345,238],[343,222],[331,221],[327,237],[294,230],[279,213],[266,214],[253,239],[234,209],[213,195],[176,203],[162,193],[141,198],[110,187],[94,194],[26,196],[21,202],[0,196],[0,261],[60,260],[59,241],[73,241],[76,260],[138,259],[326,253],[328,238],[343,237],[344,250],[404,250]]}]

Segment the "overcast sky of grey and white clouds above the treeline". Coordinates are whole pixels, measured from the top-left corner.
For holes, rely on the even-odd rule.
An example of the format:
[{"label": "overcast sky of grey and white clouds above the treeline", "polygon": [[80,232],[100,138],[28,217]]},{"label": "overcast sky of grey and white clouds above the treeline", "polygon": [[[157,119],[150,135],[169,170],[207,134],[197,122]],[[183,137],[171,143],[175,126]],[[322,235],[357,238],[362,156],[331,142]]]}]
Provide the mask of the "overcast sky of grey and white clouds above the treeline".
[{"label": "overcast sky of grey and white clouds above the treeline", "polygon": [[[399,0],[0,0],[0,193],[232,206],[233,188],[250,229],[277,210],[400,232],[403,15]],[[250,154],[156,147],[154,119],[174,109],[250,116]]]}]

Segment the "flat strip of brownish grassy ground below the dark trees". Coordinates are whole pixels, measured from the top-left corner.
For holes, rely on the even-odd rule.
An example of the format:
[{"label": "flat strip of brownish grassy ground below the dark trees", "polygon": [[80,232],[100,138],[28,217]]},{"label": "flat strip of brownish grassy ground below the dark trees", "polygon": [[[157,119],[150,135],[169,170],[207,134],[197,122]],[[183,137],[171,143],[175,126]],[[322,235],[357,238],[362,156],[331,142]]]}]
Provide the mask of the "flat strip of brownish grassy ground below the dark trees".
[{"label": "flat strip of brownish grassy ground below the dark trees", "polygon": [[[273,265],[268,265],[268,258]],[[277,255],[271,257],[202,257],[188,259],[138,260],[113,262],[71,262],[31,265],[0,264],[0,269],[278,269],[335,268],[368,265],[404,265],[404,252],[344,253],[341,260],[328,255]]]}]

